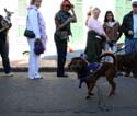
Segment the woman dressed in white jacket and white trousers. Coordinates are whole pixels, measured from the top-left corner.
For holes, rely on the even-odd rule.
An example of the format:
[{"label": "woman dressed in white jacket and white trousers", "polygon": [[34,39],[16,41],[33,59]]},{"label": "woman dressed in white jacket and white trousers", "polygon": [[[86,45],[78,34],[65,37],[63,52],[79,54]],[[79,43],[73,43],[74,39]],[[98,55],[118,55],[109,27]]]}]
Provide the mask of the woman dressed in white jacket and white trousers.
[{"label": "woman dressed in white jacket and white trousers", "polygon": [[26,28],[33,31],[35,38],[27,38],[30,46],[30,60],[28,60],[28,79],[41,79],[39,74],[39,58],[41,55],[34,53],[34,44],[36,39],[41,39],[46,49],[46,27],[45,22],[39,12],[39,7],[43,0],[31,0],[27,8]]}]

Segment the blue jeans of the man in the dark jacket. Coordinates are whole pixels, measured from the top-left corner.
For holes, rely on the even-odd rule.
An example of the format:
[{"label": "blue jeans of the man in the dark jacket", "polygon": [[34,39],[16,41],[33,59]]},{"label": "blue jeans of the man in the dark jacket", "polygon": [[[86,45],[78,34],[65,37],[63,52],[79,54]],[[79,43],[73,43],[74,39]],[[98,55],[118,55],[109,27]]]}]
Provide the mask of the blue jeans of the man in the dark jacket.
[{"label": "blue jeans of the man in the dark jacket", "polygon": [[137,53],[137,38],[125,38],[125,53]]}]

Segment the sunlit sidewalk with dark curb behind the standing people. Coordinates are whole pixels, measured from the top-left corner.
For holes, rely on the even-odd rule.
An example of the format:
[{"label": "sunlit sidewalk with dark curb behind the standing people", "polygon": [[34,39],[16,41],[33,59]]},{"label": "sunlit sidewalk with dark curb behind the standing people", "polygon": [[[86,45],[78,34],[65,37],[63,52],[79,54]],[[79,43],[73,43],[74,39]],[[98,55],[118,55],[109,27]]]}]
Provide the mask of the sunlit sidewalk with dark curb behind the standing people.
[{"label": "sunlit sidewalk with dark curb behind the standing people", "polygon": [[[79,56],[82,50],[76,50],[73,53],[68,53],[67,55],[67,61],[66,65],[69,62],[69,60],[72,57]],[[41,71],[56,71],[57,62],[56,62],[57,56],[50,55],[50,56],[42,56],[41,59]],[[20,58],[19,60],[11,60],[11,67],[13,72],[20,72],[20,71],[27,71],[28,67],[28,58],[27,56],[24,58]],[[3,71],[2,61],[0,59],[0,72]]]}]

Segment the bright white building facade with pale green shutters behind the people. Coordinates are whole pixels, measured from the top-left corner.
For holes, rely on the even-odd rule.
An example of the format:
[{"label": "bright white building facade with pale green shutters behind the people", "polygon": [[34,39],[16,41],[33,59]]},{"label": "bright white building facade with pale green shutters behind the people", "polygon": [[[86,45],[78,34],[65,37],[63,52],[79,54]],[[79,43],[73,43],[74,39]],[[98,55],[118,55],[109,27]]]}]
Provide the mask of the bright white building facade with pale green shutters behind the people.
[{"label": "bright white building facade with pale green shutters behind the people", "polygon": [[[54,43],[55,13],[59,10],[62,0],[43,0],[41,11],[46,21],[46,30],[48,35],[47,51],[45,55],[56,54]],[[70,0],[75,4],[78,22],[72,24],[72,37],[70,37],[70,46],[72,49],[84,49],[87,42],[87,12],[90,7],[99,7],[101,9],[100,21],[103,22],[106,10],[112,10],[115,19],[122,22],[123,15],[130,10],[130,0]],[[12,28],[9,32],[10,39],[10,57],[20,59],[22,53],[28,50],[27,40],[23,36],[26,23],[27,5],[30,0],[1,0],[2,7],[0,13],[4,15],[3,8],[14,12],[12,20]],[[121,39],[123,40],[123,38]],[[15,55],[14,55],[15,54]]]}]

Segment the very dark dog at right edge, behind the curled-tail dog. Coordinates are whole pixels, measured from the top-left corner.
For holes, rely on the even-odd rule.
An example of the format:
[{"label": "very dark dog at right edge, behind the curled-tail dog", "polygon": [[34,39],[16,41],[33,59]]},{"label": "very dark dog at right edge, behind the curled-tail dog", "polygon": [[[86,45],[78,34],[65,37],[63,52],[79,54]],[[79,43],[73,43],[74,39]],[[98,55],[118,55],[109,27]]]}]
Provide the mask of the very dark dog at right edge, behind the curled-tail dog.
[{"label": "very dark dog at right edge, behind the curled-tail dog", "polygon": [[117,70],[124,71],[126,77],[133,72],[134,78],[137,78],[137,54],[116,55]]}]

